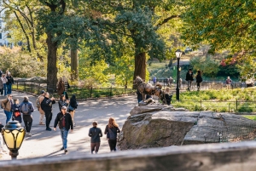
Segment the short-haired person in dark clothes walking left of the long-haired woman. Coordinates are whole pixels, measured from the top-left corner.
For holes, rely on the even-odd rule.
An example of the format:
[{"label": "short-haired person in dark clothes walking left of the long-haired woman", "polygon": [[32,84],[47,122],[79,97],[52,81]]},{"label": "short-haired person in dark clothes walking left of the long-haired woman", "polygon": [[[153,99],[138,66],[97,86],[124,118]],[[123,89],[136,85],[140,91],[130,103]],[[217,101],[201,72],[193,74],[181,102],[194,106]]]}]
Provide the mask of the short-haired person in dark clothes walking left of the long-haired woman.
[{"label": "short-haired person in dark clothes walking left of the long-haired woman", "polygon": [[90,136],[90,152],[93,154],[93,151],[97,154],[101,145],[102,129],[97,128],[98,123],[94,121],[92,123],[92,128],[89,129]]}]

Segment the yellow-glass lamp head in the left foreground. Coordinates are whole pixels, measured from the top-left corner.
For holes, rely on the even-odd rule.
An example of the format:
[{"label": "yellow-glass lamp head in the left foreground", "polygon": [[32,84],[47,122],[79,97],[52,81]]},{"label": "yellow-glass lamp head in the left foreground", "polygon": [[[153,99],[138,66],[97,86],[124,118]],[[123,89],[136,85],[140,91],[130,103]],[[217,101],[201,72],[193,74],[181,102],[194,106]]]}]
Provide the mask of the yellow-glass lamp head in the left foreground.
[{"label": "yellow-glass lamp head in the left foreground", "polygon": [[18,121],[9,121],[4,128],[2,128],[2,135],[5,144],[9,149],[9,155],[12,160],[17,159],[19,155],[20,146],[24,140],[26,130],[21,127]]}]

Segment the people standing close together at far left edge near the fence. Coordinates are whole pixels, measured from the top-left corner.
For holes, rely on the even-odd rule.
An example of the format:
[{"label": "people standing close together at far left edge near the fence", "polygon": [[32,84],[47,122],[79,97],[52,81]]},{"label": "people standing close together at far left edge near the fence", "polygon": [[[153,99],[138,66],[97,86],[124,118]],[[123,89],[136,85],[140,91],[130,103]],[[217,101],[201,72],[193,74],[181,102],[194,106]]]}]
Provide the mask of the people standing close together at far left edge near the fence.
[{"label": "people standing close together at far left edge near the fence", "polygon": [[12,93],[12,85],[15,83],[9,71],[5,73],[0,69],[0,92],[1,95],[7,95]]}]

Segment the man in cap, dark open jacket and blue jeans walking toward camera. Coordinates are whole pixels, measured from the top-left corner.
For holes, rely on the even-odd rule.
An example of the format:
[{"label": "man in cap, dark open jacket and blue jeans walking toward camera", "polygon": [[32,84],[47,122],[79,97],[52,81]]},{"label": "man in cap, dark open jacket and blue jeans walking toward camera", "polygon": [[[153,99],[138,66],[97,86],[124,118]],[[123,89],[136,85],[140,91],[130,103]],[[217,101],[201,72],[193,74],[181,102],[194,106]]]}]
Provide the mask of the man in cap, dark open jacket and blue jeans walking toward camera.
[{"label": "man in cap, dark open jacket and blue jeans walking toward camera", "polygon": [[73,121],[72,117],[69,113],[67,113],[67,107],[62,106],[61,112],[59,112],[55,118],[54,130],[56,130],[56,126],[59,124],[59,128],[61,130],[61,139],[62,139],[62,147],[61,151],[67,152],[67,134],[69,129],[71,128],[71,132],[73,132]]}]

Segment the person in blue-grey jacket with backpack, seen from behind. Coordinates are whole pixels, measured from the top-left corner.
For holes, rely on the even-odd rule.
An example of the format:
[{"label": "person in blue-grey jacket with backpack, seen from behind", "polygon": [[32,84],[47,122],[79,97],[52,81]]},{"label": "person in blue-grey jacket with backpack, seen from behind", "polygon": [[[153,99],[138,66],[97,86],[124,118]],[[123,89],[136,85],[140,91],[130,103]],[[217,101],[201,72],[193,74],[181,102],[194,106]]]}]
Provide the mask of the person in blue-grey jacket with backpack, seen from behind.
[{"label": "person in blue-grey jacket with backpack, seen from behind", "polygon": [[23,102],[20,104],[20,112],[23,114],[23,122],[26,128],[26,136],[31,137],[32,134],[30,133],[33,117],[32,112],[34,111],[34,107],[32,102],[28,100],[28,97],[25,96]]}]

